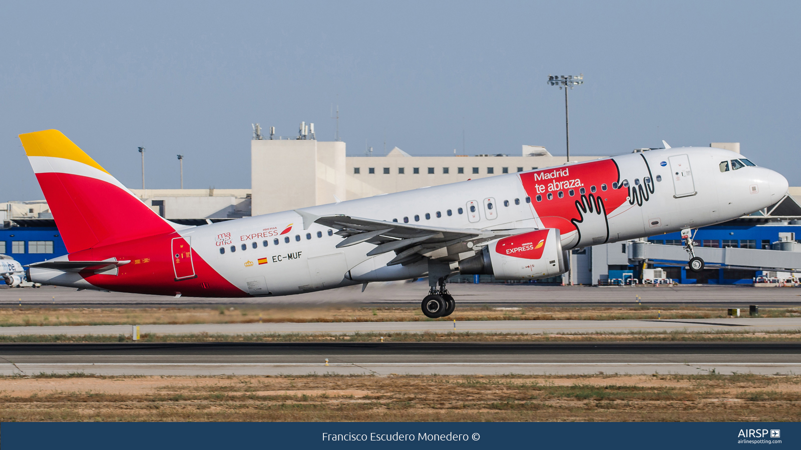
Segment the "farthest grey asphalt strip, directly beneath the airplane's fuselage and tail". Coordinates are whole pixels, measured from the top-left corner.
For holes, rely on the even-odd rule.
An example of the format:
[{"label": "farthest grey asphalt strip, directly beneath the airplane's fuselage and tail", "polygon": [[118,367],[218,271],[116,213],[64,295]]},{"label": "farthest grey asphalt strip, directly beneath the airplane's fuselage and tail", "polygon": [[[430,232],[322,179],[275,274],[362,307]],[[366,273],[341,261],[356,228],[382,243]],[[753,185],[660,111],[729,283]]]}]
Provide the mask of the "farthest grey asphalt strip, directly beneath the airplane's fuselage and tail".
[{"label": "farthest grey asphalt strip, directly beneath the airplane's fuselage and tail", "polygon": [[[801,288],[737,285],[680,285],[635,287],[541,286],[536,284],[451,283],[448,289],[461,307],[801,307]],[[121,292],[76,291],[68,287],[0,287],[0,307],[208,307],[260,305],[310,307],[332,304],[360,307],[419,308],[429,286],[425,281],[370,283],[285,297],[200,299]],[[458,307],[457,306],[457,307]]]}]

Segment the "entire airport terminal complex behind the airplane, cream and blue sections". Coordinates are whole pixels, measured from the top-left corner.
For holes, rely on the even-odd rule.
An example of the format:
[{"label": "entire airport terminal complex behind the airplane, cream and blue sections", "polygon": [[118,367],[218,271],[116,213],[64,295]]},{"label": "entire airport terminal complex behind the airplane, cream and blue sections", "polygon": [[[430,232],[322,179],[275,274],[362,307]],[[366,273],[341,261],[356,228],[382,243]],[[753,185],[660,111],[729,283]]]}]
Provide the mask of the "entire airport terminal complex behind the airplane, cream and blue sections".
[{"label": "entire airport terminal complex behind the airplane, cream and blue sections", "polygon": [[[395,147],[383,156],[348,156],[344,142],[317,141],[313,135],[260,138],[256,134],[251,141],[251,189],[131,189],[131,192],[166,219],[203,225],[567,162],[565,156],[553,156],[545,147],[530,145],[521,146],[520,151],[483,155],[413,156]],[[710,147],[739,152],[739,143],[711,143]],[[570,159],[586,161],[598,156]],[[0,253],[23,264],[66,254],[46,201],[0,203],[0,219]],[[618,279],[642,280],[653,275],[654,269],[661,278],[678,283],[751,283],[756,276],[778,276],[781,270],[769,261],[755,267],[734,263],[735,259],[739,261],[737,258],[742,259],[751,250],[768,249],[798,251],[801,256],[796,235],[801,238],[801,187],[791,187],[779,203],[763,211],[699,229],[694,237],[700,247],[697,251],[707,252],[704,257],[707,268],[702,272],[687,270],[682,248],[669,247],[681,245],[681,237],[672,233],[652,236],[640,243],[574,249],[569,273],[536,283],[605,284]],[[648,246],[645,251],[643,245]],[[738,250],[731,250],[735,248]],[[749,258],[770,259],[770,255],[775,252],[759,252]],[[778,269],[782,267],[791,268],[785,264]],[[801,264],[798,268],[801,270]],[[795,275],[787,271],[785,276]],[[458,278],[468,280],[466,276]],[[473,275],[469,275],[469,280],[473,281]],[[486,275],[481,275],[481,280],[493,281]]]}]

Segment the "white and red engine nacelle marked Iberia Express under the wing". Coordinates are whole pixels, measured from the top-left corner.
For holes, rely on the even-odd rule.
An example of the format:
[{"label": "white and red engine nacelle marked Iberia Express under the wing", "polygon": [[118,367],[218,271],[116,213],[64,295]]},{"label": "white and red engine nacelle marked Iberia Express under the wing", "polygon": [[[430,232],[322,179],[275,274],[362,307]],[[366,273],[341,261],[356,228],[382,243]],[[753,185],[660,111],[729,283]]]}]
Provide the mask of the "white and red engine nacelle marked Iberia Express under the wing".
[{"label": "white and red engine nacelle marked Iberia Express under the wing", "polygon": [[559,230],[545,228],[490,241],[480,254],[459,262],[463,275],[495,279],[541,279],[569,270]]}]

